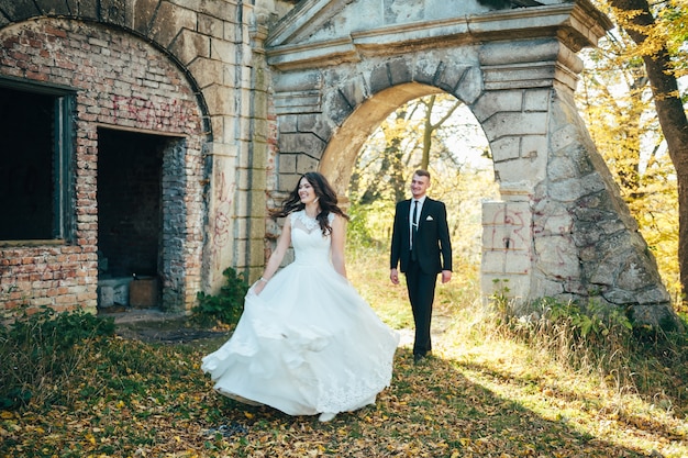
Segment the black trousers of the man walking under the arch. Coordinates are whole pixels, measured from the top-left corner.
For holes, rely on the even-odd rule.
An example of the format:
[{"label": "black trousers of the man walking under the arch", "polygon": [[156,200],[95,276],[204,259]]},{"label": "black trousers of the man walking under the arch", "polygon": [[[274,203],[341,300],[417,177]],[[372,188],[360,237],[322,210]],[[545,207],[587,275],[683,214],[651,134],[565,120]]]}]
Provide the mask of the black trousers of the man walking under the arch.
[{"label": "black trousers of the man walking under the arch", "polygon": [[425,356],[425,354],[432,350],[430,320],[432,317],[432,303],[435,299],[437,273],[423,273],[419,264],[411,261],[406,276],[409,300],[413,311],[413,322],[415,323],[413,355]]}]

